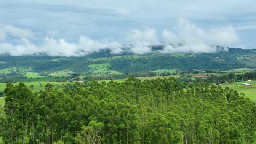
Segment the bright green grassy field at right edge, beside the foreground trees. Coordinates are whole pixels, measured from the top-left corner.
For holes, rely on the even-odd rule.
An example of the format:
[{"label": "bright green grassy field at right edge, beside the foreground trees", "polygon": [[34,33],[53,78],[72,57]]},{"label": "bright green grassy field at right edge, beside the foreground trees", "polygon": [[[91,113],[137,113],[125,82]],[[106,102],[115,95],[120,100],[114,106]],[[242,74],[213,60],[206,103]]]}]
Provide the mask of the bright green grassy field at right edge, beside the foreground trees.
[{"label": "bright green grassy field at right edge, beside the foreground trees", "polygon": [[[251,85],[245,86],[242,83],[249,83]],[[231,85],[223,85],[222,87],[225,88],[226,86],[236,90],[238,93],[244,93],[246,97],[251,99],[251,101],[256,102],[256,81],[236,82],[231,83]]]}]

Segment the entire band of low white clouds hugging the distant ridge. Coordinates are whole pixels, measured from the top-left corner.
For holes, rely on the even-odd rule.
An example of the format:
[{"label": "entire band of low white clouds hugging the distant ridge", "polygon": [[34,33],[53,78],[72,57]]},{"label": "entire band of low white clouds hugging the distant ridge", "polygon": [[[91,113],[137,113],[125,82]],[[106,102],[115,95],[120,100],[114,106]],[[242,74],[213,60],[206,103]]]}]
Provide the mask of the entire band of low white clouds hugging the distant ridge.
[{"label": "entire band of low white clouds hugging the distant ridge", "polygon": [[[64,38],[45,37],[41,44],[35,44],[33,41],[36,37],[37,34],[29,29],[1,27],[0,54],[21,56],[46,53],[49,56],[85,56],[104,50],[109,50],[112,54],[215,53],[220,49],[214,45],[231,46],[240,42],[232,26],[204,30],[186,20],[178,21],[172,29],[163,30],[160,39],[155,29],[132,29],[124,36],[126,45],[115,40],[92,40],[85,36],[80,36],[76,43],[68,42]],[[128,45],[129,43],[132,45]],[[152,45],[163,45],[163,49],[152,51]],[[227,51],[227,48],[222,48],[221,51]]]}]

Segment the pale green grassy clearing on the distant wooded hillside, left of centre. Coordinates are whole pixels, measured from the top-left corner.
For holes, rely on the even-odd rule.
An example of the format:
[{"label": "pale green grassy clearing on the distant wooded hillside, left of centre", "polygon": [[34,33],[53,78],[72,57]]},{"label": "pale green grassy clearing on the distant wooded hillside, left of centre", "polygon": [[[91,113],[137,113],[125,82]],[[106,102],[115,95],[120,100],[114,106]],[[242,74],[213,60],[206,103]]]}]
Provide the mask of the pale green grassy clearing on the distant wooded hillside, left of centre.
[{"label": "pale green grassy clearing on the distant wooded hillside, left of centre", "polygon": [[122,74],[121,72],[117,72],[115,70],[109,70],[109,63],[90,64],[88,67],[91,68],[93,74]]}]

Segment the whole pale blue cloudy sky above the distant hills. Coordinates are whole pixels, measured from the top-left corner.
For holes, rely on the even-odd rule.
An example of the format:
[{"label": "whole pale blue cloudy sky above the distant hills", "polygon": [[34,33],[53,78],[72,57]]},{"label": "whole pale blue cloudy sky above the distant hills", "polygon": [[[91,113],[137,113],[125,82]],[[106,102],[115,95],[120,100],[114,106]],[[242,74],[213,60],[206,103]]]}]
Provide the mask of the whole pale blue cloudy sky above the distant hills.
[{"label": "whole pale blue cloudy sky above the distant hills", "polygon": [[251,49],[255,7],[255,0],[0,0],[0,54],[145,54],[161,41],[160,53]]}]

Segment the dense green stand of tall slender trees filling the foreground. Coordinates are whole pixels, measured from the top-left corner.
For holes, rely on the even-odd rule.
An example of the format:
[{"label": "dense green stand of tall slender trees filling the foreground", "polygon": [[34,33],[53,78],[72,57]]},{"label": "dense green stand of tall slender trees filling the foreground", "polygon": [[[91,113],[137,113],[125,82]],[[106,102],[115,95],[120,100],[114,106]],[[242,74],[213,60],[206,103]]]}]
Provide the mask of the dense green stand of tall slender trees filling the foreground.
[{"label": "dense green stand of tall slender trees filling the foreground", "polygon": [[6,85],[5,143],[251,144],[256,105],[243,93],[173,77],[90,81],[32,91]]}]

